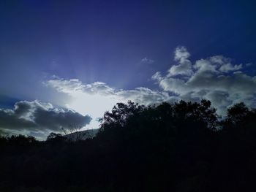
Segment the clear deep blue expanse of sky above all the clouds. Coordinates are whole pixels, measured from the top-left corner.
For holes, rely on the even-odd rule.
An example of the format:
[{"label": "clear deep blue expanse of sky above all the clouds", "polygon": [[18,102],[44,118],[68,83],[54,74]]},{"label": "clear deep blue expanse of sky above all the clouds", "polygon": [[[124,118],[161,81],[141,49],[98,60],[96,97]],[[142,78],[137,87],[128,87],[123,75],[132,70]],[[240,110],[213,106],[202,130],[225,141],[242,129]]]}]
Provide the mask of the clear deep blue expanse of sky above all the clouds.
[{"label": "clear deep blue expanse of sky above all the clouds", "polygon": [[255,1],[2,0],[0,27],[0,107],[64,103],[68,96],[42,85],[52,75],[156,90],[151,76],[176,64],[178,46],[191,61],[250,63],[243,72],[255,76]]}]

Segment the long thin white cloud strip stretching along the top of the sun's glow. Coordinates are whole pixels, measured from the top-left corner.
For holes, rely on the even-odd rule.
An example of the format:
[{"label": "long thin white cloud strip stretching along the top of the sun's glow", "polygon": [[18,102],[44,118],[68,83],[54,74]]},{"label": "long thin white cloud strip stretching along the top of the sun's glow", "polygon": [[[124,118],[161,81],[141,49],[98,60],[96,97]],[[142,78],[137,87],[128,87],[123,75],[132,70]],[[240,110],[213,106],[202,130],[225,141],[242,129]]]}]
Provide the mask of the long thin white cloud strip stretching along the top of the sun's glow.
[{"label": "long thin white cloud strip stretching along the top of the sun's glow", "polygon": [[135,88],[132,90],[122,90],[111,88],[105,82],[94,82],[91,84],[83,84],[80,80],[64,80],[62,78],[55,78],[44,82],[52,88],[62,93],[67,93],[70,96],[76,96],[83,93],[91,96],[105,96],[108,99],[116,101],[138,101],[140,104],[151,104],[162,102],[169,98],[169,94],[165,91],[153,91],[149,88]]}]

